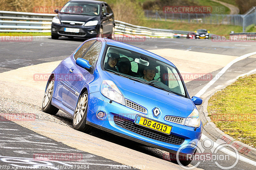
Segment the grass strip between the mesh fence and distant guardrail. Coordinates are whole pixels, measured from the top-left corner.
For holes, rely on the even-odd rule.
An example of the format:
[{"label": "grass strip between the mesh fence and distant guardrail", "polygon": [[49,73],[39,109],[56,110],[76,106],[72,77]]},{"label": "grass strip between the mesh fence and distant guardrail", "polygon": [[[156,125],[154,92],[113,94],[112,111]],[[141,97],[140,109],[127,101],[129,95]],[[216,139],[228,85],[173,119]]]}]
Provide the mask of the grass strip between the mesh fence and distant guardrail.
[{"label": "grass strip between the mesh fence and distant guardrail", "polygon": [[166,22],[166,21],[157,21],[157,20],[144,20],[141,26],[147,26],[150,28],[185,30],[185,31],[195,31],[199,28],[204,28],[213,34],[218,34],[218,35],[229,35],[231,31],[235,31],[235,33],[243,32],[242,26],[189,24],[189,23]]}]

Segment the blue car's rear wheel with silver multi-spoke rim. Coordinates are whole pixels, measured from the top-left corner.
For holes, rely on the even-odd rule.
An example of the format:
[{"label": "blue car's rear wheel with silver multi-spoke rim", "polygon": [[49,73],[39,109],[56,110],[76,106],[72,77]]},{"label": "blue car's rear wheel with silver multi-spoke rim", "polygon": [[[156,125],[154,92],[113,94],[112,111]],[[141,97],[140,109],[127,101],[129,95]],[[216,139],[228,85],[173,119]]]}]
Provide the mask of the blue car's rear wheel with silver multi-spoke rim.
[{"label": "blue car's rear wheel with silver multi-spoke rim", "polygon": [[54,78],[48,84],[46,91],[44,93],[43,103],[42,103],[42,110],[45,113],[56,115],[59,109],[55,106],[52,106],[52,94],[54,88]]}]

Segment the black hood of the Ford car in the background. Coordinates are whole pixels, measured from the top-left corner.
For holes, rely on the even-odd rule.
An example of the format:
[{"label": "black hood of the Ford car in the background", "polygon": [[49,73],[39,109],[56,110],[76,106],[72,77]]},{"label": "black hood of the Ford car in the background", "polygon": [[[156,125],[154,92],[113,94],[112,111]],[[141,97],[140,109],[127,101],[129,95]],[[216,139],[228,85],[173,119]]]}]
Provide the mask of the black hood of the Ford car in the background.
[{"label": "black hood of the Ford car in the background", "polygon": [[63,14],[59,13],[58,17],[60,20],[66,21],[79,21],[79,22],[87,22],[90,20],[98,20],[99,16],[89,16],[89,15],[78,15],[78,14]]}]

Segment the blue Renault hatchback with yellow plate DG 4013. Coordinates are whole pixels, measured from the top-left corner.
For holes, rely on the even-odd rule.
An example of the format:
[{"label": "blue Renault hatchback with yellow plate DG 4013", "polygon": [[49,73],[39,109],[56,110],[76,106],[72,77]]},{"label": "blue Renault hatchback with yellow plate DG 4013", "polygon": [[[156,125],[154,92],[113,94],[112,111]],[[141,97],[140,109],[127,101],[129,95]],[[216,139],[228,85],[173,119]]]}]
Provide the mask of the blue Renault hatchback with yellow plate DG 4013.
[{"label": "blue Renault hatchback with yellow plate DG 4013", "polygon": [[[202,99],[189,97],[170,61],[122,42],[93,38],[52,72],[42,109],[52,115],[61,109],[79,131],[95,127],[170,155],[193,155],[203,127],[195,105],[201,104]],[[180,159],[184,166],[190,162]]]}]

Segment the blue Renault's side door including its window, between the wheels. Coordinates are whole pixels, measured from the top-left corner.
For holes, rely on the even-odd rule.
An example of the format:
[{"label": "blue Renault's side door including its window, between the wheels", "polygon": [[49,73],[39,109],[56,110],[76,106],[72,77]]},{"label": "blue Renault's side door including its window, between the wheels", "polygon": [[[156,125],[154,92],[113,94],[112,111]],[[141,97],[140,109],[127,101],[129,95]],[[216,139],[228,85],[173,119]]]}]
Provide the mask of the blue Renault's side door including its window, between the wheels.
[{"label": "blue Renault's side door including its window, between the wheels", "polygon": [[[100,54],[101,42],[100,41],[87,41],[81,48],[79,48],[74,55],[75,59],[80,57],[89,61],[93,65]],[[74,60],[74,65],[69,69],[65,77],[62,90],[62,104],[71,110],[75,110],[76,101],[84,87],[86,80],[92,74],[82,67],[79,67]]]}]

